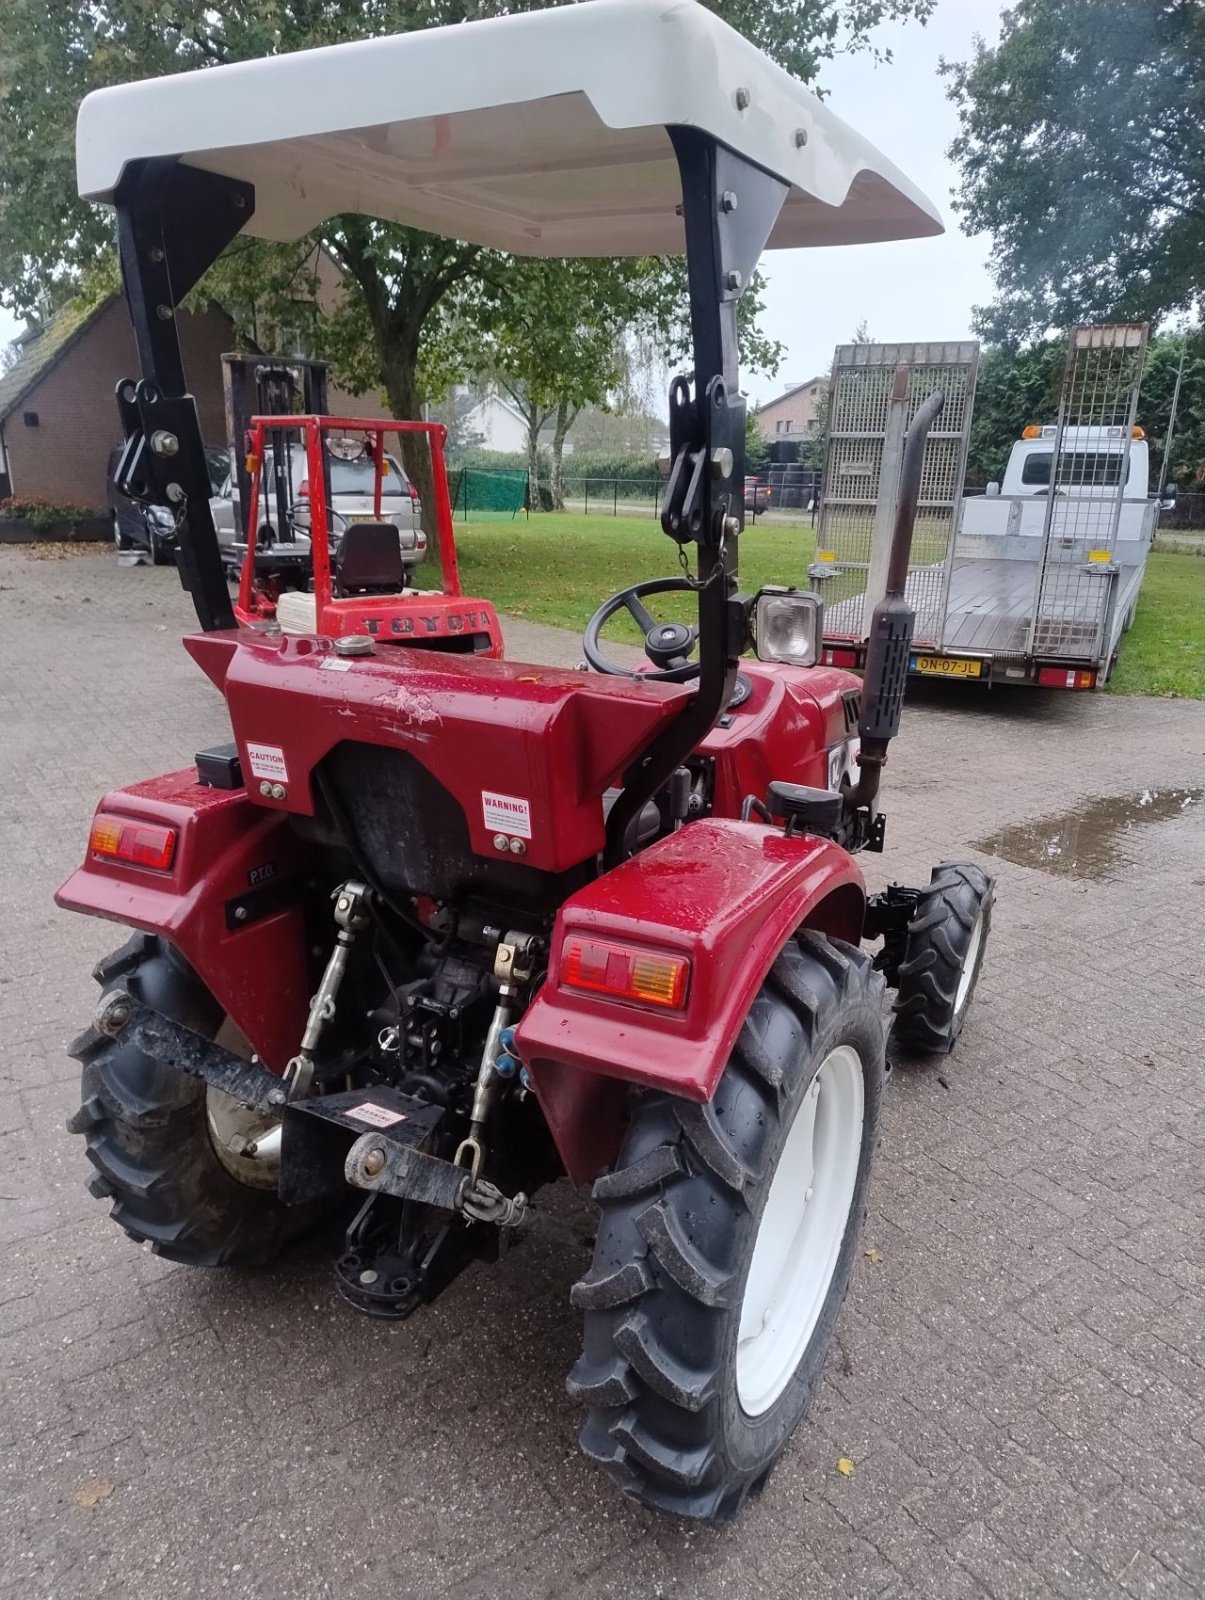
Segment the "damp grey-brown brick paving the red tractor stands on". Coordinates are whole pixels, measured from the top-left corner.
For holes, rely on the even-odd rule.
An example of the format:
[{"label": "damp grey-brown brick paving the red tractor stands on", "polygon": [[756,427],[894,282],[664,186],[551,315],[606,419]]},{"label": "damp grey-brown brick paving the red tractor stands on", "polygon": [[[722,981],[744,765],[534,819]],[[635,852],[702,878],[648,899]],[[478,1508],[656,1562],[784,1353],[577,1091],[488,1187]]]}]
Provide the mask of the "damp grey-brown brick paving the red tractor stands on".
[{"label": "damp grey-brown brick paving the red tractor stands on", "polygon": [[951,1061],[893,1074],[813,1416],[735,1526],[691,1528],[576,1453],[571,1195],[387,1328],[334,1301],[330,1240],[195,1272],[85,1194],[64,1046],[118,939],[51,893],[104,789],[224,738],[187,619],[171,571],[0,550],[0,1594],[1202,1594],[1205,806],[1131,826],[1095,882],[973,842],[1205,782],[1203,706],[909,707],[866,866],[999,874],[976,1011]]}]

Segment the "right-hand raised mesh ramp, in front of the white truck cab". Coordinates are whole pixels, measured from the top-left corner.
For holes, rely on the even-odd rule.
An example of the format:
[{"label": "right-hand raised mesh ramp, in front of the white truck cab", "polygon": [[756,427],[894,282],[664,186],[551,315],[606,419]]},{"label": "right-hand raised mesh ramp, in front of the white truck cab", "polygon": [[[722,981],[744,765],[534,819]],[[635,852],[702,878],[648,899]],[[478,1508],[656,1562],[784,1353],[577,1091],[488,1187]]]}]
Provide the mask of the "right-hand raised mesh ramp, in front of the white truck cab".
[{"label": "right-hand raised mesh ramp, in front of the white truck cab", "polygon": [[1032,470],[1043,459],[1048,474],[1031,654],[1107,667],[1106,629],[1146,341],[1146,323],[1071,330],[1050,456],[1027,462]]}]

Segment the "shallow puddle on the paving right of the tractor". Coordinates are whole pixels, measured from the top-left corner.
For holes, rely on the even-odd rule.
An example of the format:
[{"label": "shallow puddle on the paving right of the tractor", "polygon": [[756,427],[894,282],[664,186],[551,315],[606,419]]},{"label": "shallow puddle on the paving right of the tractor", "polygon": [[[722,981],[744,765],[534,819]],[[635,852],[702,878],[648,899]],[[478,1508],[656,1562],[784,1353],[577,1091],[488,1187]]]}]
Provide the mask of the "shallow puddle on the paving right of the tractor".
[{"label": "shallow puddle on the paving right of the tractor", "polygon": [[976,850],[1059,878],[1107,878],[1125,862],[1125,840],[1151,822],[1170,822],[1205,802],[1205,789],[1143,789],[1101,795],[1074,811],[1015,822]]}]

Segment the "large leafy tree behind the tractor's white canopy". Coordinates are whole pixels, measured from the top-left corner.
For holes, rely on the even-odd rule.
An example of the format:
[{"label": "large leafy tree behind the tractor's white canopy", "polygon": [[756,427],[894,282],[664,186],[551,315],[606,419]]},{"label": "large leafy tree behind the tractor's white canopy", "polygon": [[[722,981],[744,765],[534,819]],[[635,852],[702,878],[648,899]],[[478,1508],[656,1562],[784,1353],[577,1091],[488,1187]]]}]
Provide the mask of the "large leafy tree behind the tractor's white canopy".
[{"label": "large leafy tree behind the tractor's white canopy", "polygon": [[[112,258],[112,218],[75,192],[74,126],[93,88],[155,74],[390,32],[538,10],[541,0],[5,0],[0,6],[0,301],[30,312],[61,302]],[[834,56],[871,48],[887,18],[925,18],[931,0],[712,0],[783,66],[815,80]],[[328,350],[384,389],[397,416],[421,414],[432,326],[446,296],[493,277],[504,258],[416,229],[333,218],[283,262],[298,272],[322,245],[349,286],[325,330]],[[230,270],[261,293],[256,246],[237,242]],[[232,251],[234,254],[234,251]],[[344,376],[341,371],[339,376]],[[366,381],[365,381],[366,387]],[[570,402],[571,403],[571,402]],[[406,458],[419,485],[426,467]]]}]

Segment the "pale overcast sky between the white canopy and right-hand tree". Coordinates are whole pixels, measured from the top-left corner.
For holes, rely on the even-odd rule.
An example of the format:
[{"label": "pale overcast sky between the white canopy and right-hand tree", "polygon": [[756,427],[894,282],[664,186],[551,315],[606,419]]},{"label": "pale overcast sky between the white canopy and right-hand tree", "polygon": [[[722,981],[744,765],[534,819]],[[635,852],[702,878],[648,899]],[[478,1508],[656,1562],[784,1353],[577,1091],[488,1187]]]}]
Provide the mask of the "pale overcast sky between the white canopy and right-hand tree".
[{"label": "pale overcast sky between the white canopy and right-hand tree", "polygon": [[[951,214],[957,179],[946,149],[957,133],[938,61],[963,61],[976,34],[994,40],[999,0],[938,0],[925,27],[887,24],[875,40],[890,46],[890,66],[861,54],[834,62],[823,83],[832,109],[866,134],[933,200],[949,232],[898,245],[775,251],[763,261],[770,286],[765,328],[786,346],[776,378],[749,374],[754,398],[768,400],[787,382],[827,370],[832,347],[866,320],[871,336],[963,339],[975,304],[991,298],[987,240],[967,238]],[[0,347],[19,323],[0,310]]]}]

